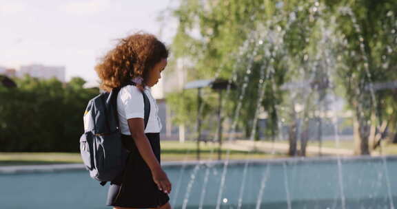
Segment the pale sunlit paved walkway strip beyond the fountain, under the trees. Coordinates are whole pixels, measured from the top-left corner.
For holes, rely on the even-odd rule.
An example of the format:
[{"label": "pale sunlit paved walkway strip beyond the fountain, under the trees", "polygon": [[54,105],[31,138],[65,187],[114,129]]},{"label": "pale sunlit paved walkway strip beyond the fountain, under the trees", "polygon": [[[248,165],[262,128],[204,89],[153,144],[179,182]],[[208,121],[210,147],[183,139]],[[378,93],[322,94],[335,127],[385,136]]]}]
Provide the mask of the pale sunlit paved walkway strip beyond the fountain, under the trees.
[{"label": "pale sunlit paved walkway strip beyond the fountain, under the trees", "polygon": [[[263,142],[251,140],[234,140],[234,142],[225,142],[223,147],[239,151],[263,151],[263,152],[276,152],[287,153],[289,144],[281,142]],[[318,146],[307,146],[306,153],[317,154]],[[353,150],[347,148],[330,148],[322,147],[321,153],[323,155],[354,155]]]}]

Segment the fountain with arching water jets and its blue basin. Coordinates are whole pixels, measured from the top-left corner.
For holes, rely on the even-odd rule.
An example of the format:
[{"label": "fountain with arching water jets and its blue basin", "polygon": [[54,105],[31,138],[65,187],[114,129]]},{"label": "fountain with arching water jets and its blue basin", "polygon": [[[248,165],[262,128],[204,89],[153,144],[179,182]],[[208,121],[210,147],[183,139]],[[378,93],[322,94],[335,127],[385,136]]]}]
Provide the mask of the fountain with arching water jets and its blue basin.
[{"label": "fountain with arching water jets and its blue basin", "polygon": [[[219,111],[219,116],[211,120],[230,120],[227,131],[227,142],[236,142],[236,132],[241,131],[240,124],[244,108],[252,107],[250,111],[254,117],[243,121],[250,124],[245,141],[255,144],[261,140],[271,141],[268,153],[276,154],[276,144],[289,139],[290,157],[278,159],[230,159],[231,149],[223,160],[214,157],[214,149],[210,151],[208,159],[188,162],[163,162],[167,175],[173,183],[170,194],[170,203],[173,208],[395,208],[397,200],[397,157],[380,155],[371,157],[343,156],[336,153],[327,156],[318,148],[317,157],[307,157],[306,151],[310,140],[317,137],[319,146],[322,147],[325,136],[332,137],[336,150],[341,147],[343,137],[340,134],[343,127],[336,114],[336,95],[340,81],[338,74],[338,59],[340,54],[356,56],[363,61],[363,72],[368,80],[358,80],[359,86],[352,89],[362,104],[358,104],[357,118],[360,120],[360,135],[369,135],[367,115],[365,111],[372,107],[378,107],[376,91],[387,87],[395,88],[395,82],[376,83],[371,77],[369,58],[365,53],[365,37],[357,36],[360,54],[354,54],[353,50],[344,49],[338,51],[337,47],[347,44],[346,34],[336,32],[337,18],[325,17],[327,7],[320,1],[305,1],[301,6],[289,12],[282,10],[283,1],[276,3],[276,11],[272,19],[257,23],[257,25],[243,28],[250,33],[240,47],[230,55],[235,60],[232,67],[227,69],[227,61],[221,63],[214,72],[215,80],[227,78],[228,83],[239,83],[237,91],[231,91],[228,85],[224,98],[233,101],[232,111]],[[356,33],[362,32],[358,25],[357,17],[348,7],[338,8],[340,15],[349,17]],[[250,17],[256,19],[256,12]],[[394,18],[394,13],[387,12],[387,18]],[[312,24],[313,23],[313,24]],[[316,23],[314,25],[314,23]],[[292,52],[286,37],[289,30],[296,27],[301,32],[301,39],[308,43],[312,39],[312,30],[319,34],[316,38],[316,46],[307,49],[299,46]],[[243,26],[244,27],[244,26]],[[395,33],[396,31],[394,31]],[[292,38],[291,38],[292,39]],[[389,52],[390,50],[388,50]],[[390,52],[391,53],[391,52]],[[383,59],[385,57],[382,56]],[[226,70],[228,70],[226,72]],[[285,72],[283,82],[278,73]],[[230,72],[229,72],[230,71]],[[275,121],[267,120],[275,130],[265,137],[258,136],[259,126],[257,115],[263,111],[263,101],[269,96],[269,91],[280,94],[282,102],[272,103]],[[274,93],[274,94],[276,94]],[[247,97],[254,98],[252,105],[247,105]],[[223,99],[220,106],[224,107],[227,100]],[[203,104],[198,106],[198,115],[203,112]],[[269,111],[269,110],[265,110]],[[270,112],[270,111],[269,111]],[[214,114],[215,115],[215,114]],[[310,120],[316,119],[316,126],[312,126]],[[380,120],[376,113],[376,120]],[[200,118],[199,118],[200,119]],[[332,126],[323,131],[325,124]],[[381,124],[378,122],[378,124]],[[379,130],[385,130],[378,126]],[[218,129],[219,130],[219,129]],[[222,130],[222,129],[220,129]],[[201,131],[201,121],[197,123],[197,131]],[[222,131],[218,133],[221,138]],[[200,134],[197,136],[200,139]],[[382,138],[382,137],[380,137]],[[298,147],[298,143],[300,146]],[[199,140],[198,140],[199,144]],[[364,144],[365,145],[365,144]],[[380,144],[380,147],[382,144]],[[187,150],[185,155],[190,154]],[[316,153],[317,155],[317,153]],[[84,179],[83,172],[65,173],[41,173],[33,178],[28,174],[9,175],[7,171],[0,170],[0,182],[7,191],[0,190],[1,206],[5,208],[19,207],[18,199],[22,196],[27,202],[35,202],[37,206],[45,208],[51,203],[57,203],[61,208],[76,208],[65,199],[58,197],[54,188],[47,185],[41,188],[43,192],[34,196],[26,192],[26,188],[39,188],[40,182],[57,182],[54,185],[61,186],[68,193],[69,199],[79,201],[79,206],[85,208],[101,208],[98,202],[99,195],[89,195],[97,191],[96,182]],[[64,181],[59,183],[59,179]],[[17,187],[12,182],[19,181],[22,185]],[[23,186],[26,186],[24,188]],[[84,187],[85,190],[76,190]],[[84,193],[85,192],[85,193]],[[12,198],[4,198],[10,197]],[[1,198],[3,197],[3,198]],[[46,197],[43,201],[38,201]],[[50,198],[48,198],[50,197]],[[105,197],[105,194],[103,194]],[[85,205],[86,203],[86,205]]]}]

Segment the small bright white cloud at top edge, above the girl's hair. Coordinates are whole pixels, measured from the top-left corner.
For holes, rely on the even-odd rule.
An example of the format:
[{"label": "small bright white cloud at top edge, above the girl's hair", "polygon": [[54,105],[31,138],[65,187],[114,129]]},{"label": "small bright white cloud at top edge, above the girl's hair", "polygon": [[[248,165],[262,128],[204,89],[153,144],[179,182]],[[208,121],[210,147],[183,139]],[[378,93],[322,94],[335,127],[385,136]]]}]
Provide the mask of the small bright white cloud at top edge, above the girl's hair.
[{"label": "small bright white cloud at top edge, above the girl's hair", "polygon": [[94,14],[103,12],[110,5],[108,0],[70,1],[59,6],[59,10],[70,14]]}]

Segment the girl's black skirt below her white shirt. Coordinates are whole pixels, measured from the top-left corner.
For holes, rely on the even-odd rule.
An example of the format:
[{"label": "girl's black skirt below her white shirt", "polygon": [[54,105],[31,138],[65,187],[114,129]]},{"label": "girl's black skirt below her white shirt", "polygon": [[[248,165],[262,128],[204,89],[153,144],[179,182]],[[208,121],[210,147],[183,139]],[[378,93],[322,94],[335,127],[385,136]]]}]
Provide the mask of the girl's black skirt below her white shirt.
[{"label": "girl's black skirt below her white shirt", "polygon": [[[145,133],[154,155],[160,162],[160,134]],[[125,208],[157,208],[170,200],[167,193],[159,190],[152,178],[152,172],[136,148],[130,135],[122,135],[125,148],[130,151],[124,173],[116,177],[108,190],[107,206]]]}]

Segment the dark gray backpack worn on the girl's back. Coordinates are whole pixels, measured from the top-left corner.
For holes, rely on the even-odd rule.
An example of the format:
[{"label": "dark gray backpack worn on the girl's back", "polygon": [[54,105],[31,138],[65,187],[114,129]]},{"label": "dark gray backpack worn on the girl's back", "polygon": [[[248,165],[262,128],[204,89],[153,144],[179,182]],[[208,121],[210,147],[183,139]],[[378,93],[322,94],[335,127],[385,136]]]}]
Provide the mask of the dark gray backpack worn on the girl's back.
[{"label": "dark gray backpack worn on the girl's back", "polygon": [[[132,81],[125,85],[135,85]],[[123,85],[123,86],[125,86]],[[122,86],[122,87],[123,87]],[[121,142],[117,94],[121,87],[103,92],[88,102],[84,113],[84,133],[80,137],[80,153],[90,176],[104,186],[112,181],[125,167],[128,150]],[[142,92],[145,109],[145,128],[149,119],[150,102]]]}]

